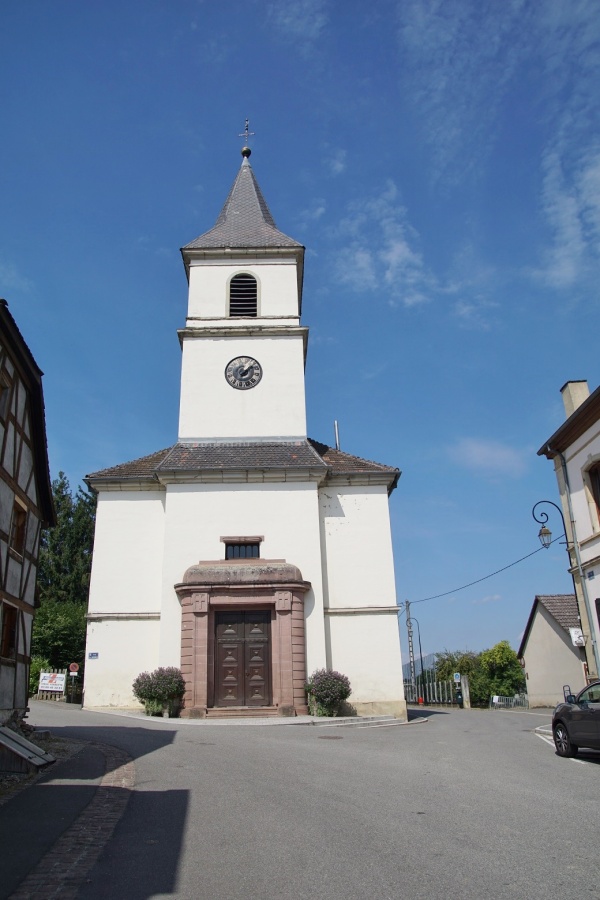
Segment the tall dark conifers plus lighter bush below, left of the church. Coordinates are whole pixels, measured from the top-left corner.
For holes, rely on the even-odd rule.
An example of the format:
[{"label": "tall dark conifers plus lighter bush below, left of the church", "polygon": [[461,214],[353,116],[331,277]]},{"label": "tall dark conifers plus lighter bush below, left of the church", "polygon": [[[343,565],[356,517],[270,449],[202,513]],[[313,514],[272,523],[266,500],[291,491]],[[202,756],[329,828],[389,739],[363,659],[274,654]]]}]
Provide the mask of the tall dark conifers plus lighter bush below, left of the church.
[{"label": "tall dark conifers plus lighter bush below, left of the church", "polygon": [[96,497],[71,492],[64,472],[52,482],[56,526],[42,534],[38,565],[40,606],[33,622],[32,655],[53,668],[83,663]]}]

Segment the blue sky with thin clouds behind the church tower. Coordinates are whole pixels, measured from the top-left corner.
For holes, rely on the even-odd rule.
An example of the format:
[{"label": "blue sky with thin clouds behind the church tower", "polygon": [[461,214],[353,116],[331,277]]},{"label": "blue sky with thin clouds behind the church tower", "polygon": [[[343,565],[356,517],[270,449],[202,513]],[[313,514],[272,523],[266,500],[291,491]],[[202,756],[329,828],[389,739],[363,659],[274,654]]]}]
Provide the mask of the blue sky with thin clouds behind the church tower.
[{"label": "blue sky with thin clouds behind the church tower", "polygon": [[[31,0],[0,12],[0,295],[73,486],[176,439],[179,248],[240,165],[307,248],[309,434],[398,466],[423,652],[571,588],[536,451],[598,385],[594,0]],[[558,535],[560,523],[550,512]],[[402,626],[403,640],[405,629]]]}]

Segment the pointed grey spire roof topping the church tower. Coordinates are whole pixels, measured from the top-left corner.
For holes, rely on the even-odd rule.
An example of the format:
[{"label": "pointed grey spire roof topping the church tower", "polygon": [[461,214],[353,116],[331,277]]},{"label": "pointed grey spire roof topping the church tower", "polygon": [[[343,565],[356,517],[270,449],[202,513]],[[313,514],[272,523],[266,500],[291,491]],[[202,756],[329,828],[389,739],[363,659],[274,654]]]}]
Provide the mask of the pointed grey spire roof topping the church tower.
[{"label": "pointed grey spire roof topping the church tower", "polygon": [[302,244],[278,230],[247,159],[240,167],[214,228],[182,249],[185,252],[225,247],[303,249]]}]

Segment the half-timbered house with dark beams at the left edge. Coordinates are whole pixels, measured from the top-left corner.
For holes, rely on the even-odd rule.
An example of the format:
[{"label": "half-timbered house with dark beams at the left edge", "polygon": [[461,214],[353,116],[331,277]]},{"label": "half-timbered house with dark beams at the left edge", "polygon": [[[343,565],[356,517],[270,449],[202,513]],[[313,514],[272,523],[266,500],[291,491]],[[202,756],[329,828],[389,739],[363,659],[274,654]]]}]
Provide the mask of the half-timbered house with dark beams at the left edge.
[{"label": "half-timbered house with dark beams at the left edge", "polygon": [[40,532],[54,520],[42,372],[0,300],[0,724],[27,708]]}]

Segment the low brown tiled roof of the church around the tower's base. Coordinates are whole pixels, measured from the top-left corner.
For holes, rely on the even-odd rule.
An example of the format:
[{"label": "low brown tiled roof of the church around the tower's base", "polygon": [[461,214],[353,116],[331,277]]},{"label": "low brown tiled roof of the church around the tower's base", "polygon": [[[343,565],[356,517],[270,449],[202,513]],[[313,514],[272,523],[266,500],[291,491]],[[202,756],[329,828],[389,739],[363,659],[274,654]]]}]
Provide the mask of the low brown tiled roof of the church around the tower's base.
[{"label": "low brown tiled roof of the church around the tower's base", "polygon": [[149,456],[101,469],[86,476],[86,481],[114,482],[149,478],[159,480],[169,473],[232,470],[313,470],[332,476],[376,476],[388,483],[391,493],[400,470],[335,450],[319,441],[232,441],[178,443]]}]

